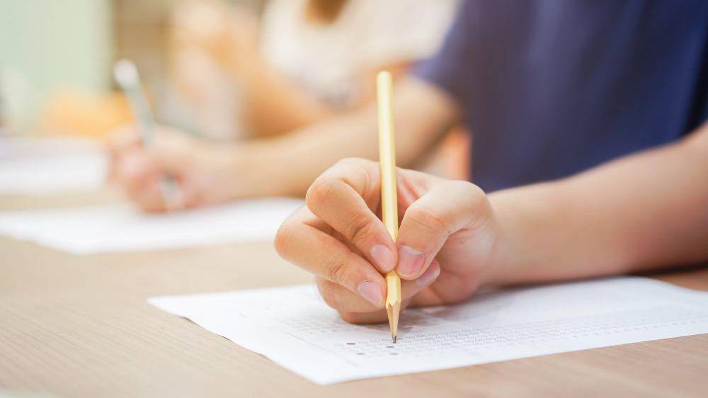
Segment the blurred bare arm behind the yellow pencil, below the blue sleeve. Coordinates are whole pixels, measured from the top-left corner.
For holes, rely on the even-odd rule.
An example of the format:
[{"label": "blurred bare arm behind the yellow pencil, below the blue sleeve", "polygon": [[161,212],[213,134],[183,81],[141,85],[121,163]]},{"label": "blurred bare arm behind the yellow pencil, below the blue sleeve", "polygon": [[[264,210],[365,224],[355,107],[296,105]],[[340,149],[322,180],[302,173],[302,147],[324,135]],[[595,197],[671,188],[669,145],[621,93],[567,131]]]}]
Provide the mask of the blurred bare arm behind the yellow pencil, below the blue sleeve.
[{"label": "blurred bare arm behind the yellow pencil, below the blue sleeve", "polygon": [[[268,186],[253,181],[253,195],[302,195],[314,179],[345,157],[376,159],[377,113],[370,104],[287,135],[242,146],[239,161],[254,175],[268,178]],[[421,81],[407,79],[396,86],[394,125],[396,157],[407,166],[423,153],[448,126],[457,109],[444,93]]]}]

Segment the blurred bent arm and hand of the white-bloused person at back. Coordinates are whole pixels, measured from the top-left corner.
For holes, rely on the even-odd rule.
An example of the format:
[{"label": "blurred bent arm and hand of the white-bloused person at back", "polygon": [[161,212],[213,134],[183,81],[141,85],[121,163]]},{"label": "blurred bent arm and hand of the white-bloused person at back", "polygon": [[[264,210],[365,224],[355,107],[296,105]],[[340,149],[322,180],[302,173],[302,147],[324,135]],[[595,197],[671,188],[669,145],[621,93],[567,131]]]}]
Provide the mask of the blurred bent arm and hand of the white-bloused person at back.
[{"label": "blurred bent arm and hand of the white-bloused person at back", "polygon": [[[269,137],[315,123],[341,110],[320,101],[273,69],[257,45],[257,23],[249,11],[222,1],[187,1],[173,13],[174,52],[199,51],[212,58],[239,89],[239,118],[255,137]],[[406,62],[379,65],[402,74]],[[368,79],[360,71],[361,81]],[[314,72],[313,72],[314,73]],[[362,103],[369,98],[362,98]]]}]

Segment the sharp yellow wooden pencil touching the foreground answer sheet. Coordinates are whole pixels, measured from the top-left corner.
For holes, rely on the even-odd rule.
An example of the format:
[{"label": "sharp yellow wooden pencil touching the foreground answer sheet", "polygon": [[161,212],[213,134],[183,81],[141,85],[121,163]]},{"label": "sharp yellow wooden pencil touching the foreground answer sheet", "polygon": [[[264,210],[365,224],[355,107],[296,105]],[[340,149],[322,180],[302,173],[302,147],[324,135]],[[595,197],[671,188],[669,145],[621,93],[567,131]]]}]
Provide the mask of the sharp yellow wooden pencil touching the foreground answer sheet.
[{"label": "sharp yellow wooden pencil touching the foreground answer sheet", "polygon": [[[379,168],[381,169],[382,220],[391,237],[398,237],[398,195],[396,193],[396,149],[392,110],[393,85],[391,74],[379,72],[376,76],[379,106]],[[386,313],[391,326],[391,339],[396,343],[401,314],[401,278],[396,270],[386,274]]]}]

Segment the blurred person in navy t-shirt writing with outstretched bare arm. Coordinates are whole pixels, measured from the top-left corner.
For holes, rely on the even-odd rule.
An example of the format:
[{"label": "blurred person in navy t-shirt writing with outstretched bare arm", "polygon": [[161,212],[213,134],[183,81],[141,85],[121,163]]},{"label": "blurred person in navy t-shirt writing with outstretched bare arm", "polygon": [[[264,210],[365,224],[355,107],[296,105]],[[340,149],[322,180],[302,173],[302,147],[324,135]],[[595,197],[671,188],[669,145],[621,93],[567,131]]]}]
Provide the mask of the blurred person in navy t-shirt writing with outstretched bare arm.
[{"label": "blurred person in navy t-shirt writing with outstretched bare arm", "polygon": [[[472,181],[487,192],[680,140],[708,113],[707,25],[708,4],[692,0],[465,1],[438,55],[396,84],[399,165],[458,121],[474,134]],[[145,151],[125,138],[116,175],[148,210],[164,210],[164,173],[194,192],[189,205],[302,195],[339,159],[376,159],[376,108],[269,140],[192,147]]]}]

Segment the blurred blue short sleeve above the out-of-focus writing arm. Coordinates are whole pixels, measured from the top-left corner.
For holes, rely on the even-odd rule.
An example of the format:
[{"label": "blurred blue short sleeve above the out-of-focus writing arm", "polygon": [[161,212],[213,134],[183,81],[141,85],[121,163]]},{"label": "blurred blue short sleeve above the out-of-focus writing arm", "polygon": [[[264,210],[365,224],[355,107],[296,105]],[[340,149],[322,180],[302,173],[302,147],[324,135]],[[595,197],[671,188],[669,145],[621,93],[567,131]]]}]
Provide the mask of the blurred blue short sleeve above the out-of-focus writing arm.
[{"label": "blurred blue short sleeve above the out-of-focus writing arm", "polygon": [[464,81],[472,54],[472,40],[469,39],[474,12],[471,5],[470,1],[464,1],[459,6],[455,21],[438,53],[419,62],[413,69],[414,76],[447,91],[462,107],[467,106],[470,98],[469,85],[459,82]]}]

